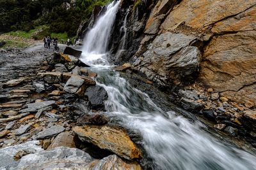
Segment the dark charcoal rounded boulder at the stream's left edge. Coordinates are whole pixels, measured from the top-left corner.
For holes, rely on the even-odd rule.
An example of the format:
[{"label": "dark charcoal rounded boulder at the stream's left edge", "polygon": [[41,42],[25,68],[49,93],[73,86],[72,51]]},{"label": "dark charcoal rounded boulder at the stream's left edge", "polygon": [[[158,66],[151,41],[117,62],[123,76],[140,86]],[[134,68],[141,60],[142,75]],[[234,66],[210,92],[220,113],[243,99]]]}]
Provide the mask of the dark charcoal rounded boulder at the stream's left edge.
[{"label": "dark charcoal rounded boulder at the stream's left edge", "polygon": [[104,101],[108,99],[108,93],[103,87],[100,87],[99,85],[88,87],[84,95],[88,96],[88,99],[92,104],[92,109],[104,110]]}]

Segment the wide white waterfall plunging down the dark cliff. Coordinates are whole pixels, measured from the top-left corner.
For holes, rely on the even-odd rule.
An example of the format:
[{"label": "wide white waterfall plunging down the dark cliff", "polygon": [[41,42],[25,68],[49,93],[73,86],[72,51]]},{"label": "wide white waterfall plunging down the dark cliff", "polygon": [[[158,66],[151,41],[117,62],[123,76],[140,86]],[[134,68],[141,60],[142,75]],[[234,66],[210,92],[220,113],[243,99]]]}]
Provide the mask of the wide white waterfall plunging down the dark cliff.
[{"label": "wide white waterfall plunging down the dark cliff", "polygon": [[[94,27],[84,38],[82,58],[85,62],[103,59],[108,48],[108,40],[115,22],[116,12],[120,1],[108,5],[106,13],[95,23]],[[89,57],[90,56],[90,57]]]}]

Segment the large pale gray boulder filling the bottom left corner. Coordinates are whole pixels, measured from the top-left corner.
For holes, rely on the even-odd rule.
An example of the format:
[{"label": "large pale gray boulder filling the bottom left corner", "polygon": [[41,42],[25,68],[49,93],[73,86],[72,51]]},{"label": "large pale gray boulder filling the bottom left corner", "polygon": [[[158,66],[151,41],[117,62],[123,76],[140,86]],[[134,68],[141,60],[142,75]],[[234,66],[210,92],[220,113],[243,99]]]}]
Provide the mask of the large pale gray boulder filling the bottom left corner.
[{"label": "large pale gray boulder filling the bottom left corner", "polygon": [[[3,169],[83,169],[93,161],[86,152],[77,148],[58,147],[52,150],[43,150],[39,141],[29,141],[17,146],[0,149],[0,167]],[[19,160],[13,156],[17,152],[21,155]]]}]

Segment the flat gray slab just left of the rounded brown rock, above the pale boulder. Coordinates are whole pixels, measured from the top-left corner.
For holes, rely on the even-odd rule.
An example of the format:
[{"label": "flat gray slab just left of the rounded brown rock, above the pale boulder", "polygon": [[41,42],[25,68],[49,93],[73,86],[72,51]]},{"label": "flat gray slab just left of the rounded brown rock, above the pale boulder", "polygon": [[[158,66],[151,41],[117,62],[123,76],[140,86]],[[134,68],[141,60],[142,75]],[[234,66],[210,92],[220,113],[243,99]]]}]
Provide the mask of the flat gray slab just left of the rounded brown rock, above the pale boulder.
[{"label": "flat gray slab just left of the rounded brown rock, above the pale boulder", "polygon": [[62,126],[52,126],[49,129],[45,129],[42,132],[39,132],[35,139],[46,139],[46,138],[51,138],[52,136],[56,136],[60,132],[65,131],[65,128]]}]

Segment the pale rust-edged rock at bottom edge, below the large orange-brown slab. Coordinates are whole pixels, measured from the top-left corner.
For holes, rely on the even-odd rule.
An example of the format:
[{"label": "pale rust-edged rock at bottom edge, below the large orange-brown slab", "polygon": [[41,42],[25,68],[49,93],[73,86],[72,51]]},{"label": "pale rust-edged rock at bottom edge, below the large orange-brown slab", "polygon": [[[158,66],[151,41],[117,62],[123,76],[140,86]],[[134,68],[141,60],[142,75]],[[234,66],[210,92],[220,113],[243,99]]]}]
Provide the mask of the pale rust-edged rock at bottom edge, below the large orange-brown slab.
[{"label": "pale rust-edged rock at bottom edge, below the large orange-brown slab", "polygon": [[93,169],[123,169],[123,170],[141,170],[140,164],[138,162],[130,162],[123,160],[116,155],[109,155],[108,157],[100,160]]}]

